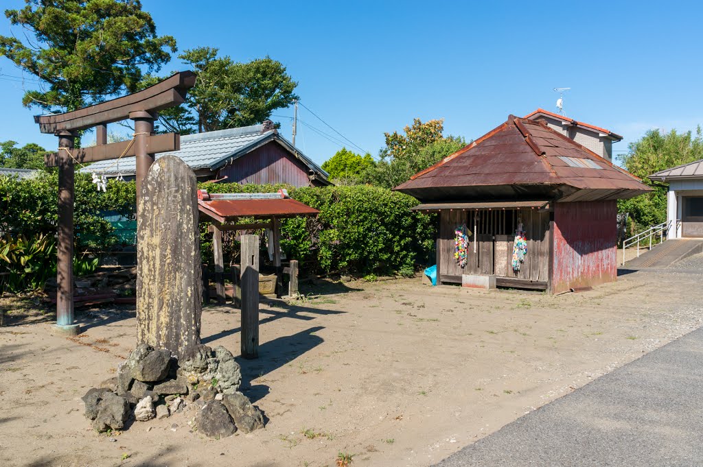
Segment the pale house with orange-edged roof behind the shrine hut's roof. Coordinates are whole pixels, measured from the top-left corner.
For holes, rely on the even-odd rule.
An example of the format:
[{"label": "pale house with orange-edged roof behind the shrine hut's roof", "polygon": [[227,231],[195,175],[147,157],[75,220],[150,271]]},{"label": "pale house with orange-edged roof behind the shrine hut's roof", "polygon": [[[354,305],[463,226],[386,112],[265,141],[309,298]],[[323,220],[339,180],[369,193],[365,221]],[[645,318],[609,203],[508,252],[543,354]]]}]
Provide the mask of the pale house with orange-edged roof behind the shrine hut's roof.
[{"label": "pale house with orange-edged roof behind the shrine hut's roof", "polygon": [[612,145],[622,140],[622,136],[610,130],[583,121],[576,121],[566,115],[537,109],[525,115],[526,119],[544,121],[550,129],[562,133],[580,145],[588,147],[603,159],[612,161]]}]

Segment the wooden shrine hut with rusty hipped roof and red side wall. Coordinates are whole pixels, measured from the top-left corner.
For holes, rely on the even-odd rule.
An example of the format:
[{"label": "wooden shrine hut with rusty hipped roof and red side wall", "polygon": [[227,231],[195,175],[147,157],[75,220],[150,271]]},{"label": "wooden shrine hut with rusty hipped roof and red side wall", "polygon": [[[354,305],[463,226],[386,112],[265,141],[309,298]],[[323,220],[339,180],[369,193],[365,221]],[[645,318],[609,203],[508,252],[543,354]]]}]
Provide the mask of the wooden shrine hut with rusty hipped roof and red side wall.
[{"label": "wooden shrine hut with rusty hipped roof and red side wall", "polygon": [[650,188],[546,122],[510,115],[395,190],[439,212],[438,283],[557,294],[617,278],[616,200]]}]

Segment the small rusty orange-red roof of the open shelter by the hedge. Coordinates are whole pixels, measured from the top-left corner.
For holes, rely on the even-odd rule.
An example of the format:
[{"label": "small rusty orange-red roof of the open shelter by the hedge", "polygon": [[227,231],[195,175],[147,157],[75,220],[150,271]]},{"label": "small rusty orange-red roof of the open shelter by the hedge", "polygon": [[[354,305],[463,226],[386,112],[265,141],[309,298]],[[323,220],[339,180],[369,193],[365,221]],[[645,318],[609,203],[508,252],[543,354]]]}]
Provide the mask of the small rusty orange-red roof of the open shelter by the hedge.
[{"label": "small rusty orange-red roof of the open shelter by the hedge", "polygon": [[320,211],[295,199],[198,199],[198,209],[216,221],[233,221],[240,217],[272,218],[317,216]]}]

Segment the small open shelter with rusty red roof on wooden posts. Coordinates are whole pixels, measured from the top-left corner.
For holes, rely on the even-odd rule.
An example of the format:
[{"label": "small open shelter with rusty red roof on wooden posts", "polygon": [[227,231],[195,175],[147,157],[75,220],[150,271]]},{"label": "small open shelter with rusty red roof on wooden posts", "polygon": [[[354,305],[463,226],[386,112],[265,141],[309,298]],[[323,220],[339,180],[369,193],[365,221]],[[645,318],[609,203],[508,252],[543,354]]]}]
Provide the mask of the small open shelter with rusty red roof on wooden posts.
[{"label": "small open shelter with rusty red roof on wooden posts", "polygon": [[[212,219],[209,232],[212,232],[212,251],[214,258],[215,291],[217,301],[224,303],[224,255],[222,251],[222,232],[268,229],[271,231],[269,242],[272,244],[273,265],[276,268],[276,295],[282,295],[283,274],[288,272],[297,277],[295,267],[284,270],[280,261],[280,219],[298,216],[317,216],[320,211],[307,204],[291,199],[286,190],[277,193],[208,193],[198,190],[198,209],[200,213]],[[241,220],[246,223],[238,223]],[[291,261],[293,263],[293,261]],[[233,281],[238,282],[237,274]],[[295,281],[297,284],[297,280]],[[236,287],[236,286],[235,286]],[[297,293],[297,285],[295,289]],[[234,292],[236,296],[236,291]]]}]

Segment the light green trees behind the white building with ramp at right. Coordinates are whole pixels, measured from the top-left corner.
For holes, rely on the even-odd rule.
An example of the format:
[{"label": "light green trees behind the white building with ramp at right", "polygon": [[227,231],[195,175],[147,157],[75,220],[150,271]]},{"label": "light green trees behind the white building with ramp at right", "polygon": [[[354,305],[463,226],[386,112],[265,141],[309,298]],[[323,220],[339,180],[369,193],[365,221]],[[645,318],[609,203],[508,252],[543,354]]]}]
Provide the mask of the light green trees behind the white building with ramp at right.
[{"label": "light green trees behind the white building with ramp at right", "polygon": [[630,143],[628,152],[619,157],[624,168],[652,186],[652,192],[631,199],[621,199],[618,209],[630,213],[639,228],[666,221],[666,185],[647,178],[662,170],[671,169],[703,159],[703,132],[701,127],[678,133],[671,130],[663,133],[659,129],[650,130],[645,136]]}]

